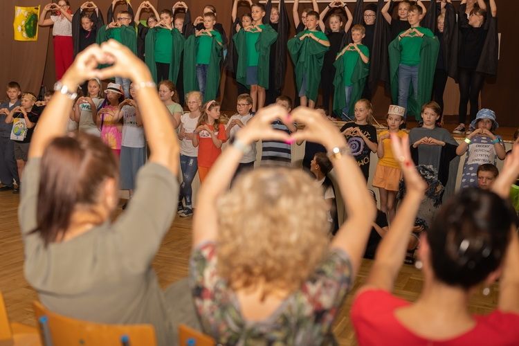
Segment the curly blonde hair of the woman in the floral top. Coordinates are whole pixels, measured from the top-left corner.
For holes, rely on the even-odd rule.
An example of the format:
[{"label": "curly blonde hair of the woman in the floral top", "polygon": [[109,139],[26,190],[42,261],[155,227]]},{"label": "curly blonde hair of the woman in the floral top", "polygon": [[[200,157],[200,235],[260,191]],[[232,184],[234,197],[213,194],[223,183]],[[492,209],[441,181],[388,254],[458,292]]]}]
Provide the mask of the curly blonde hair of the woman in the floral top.
[{"label": "curly blonde hair of the woman in the floral top", "polygon": [[327,251],[322,187],[301,170],[242,174],[219,199],[218,271],[234,289],[293,291]]}]

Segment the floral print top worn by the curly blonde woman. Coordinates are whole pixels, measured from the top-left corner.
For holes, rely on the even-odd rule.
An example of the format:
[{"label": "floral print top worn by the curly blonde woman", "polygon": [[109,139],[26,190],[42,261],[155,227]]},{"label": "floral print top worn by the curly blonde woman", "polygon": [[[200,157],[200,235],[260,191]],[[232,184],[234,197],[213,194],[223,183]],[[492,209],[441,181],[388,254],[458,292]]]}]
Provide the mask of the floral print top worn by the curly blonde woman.
[{"label": "floral print top worn by the curly blonde woman", "polygon": [[349,257],[334,248],[271,316],[248,321],[217,273],[215,243],[195,248],[190,259],[190,286],[201,325],[222,345],[320,345],[351,284]]}]

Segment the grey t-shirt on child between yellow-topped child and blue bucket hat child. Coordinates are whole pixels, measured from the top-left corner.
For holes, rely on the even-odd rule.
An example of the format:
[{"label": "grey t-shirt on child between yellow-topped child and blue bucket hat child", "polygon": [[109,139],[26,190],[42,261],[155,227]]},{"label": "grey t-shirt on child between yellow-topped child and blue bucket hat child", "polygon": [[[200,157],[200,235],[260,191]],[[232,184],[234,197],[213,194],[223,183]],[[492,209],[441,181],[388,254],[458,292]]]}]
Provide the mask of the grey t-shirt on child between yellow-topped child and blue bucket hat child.
[{"label": "grey t-shirt on child between yellow-topped child and blue bucket hat child", "polygon": [[[409,144],[412,145],[417,140],[424,137],[432,137],[445,143],[457,145],[456,140],[446,129],[435,127],[434,129],[426,129],[424,127],[415,127],[409,131]],[[439,170],[439,160],[441,156],[441,145],[421,144],[418,146],[418,164],[432,165]]]}]

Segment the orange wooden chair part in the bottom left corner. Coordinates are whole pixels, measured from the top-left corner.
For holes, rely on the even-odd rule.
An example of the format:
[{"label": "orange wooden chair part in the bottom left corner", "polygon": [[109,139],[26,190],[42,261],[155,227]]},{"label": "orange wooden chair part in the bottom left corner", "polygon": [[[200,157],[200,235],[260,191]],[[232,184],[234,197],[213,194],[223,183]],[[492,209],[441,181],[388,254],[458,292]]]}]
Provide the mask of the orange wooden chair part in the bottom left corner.
[{"label": "orange wooden chair part in the bottom left corner", "polygon": [[6,304],[0,292],[0,346],[40,346],[38,330],[35,327],[9,322]]}]

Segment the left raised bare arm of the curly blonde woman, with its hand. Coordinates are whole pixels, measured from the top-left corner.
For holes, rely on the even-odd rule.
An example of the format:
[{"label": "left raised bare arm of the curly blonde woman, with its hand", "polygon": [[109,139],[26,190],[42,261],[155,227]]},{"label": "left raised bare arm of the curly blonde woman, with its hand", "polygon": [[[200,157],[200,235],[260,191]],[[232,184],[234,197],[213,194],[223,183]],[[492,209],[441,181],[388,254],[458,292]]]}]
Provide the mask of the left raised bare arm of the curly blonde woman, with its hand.
[{"label": "left raised bare arm of the curly blonde woman, with its hand", "polygon": [[[233,179],[239,160],[244,155],[243,148],[250,147],[260,139],[288,140],[288,134],[277,131],[271,126],[271,123],[279,118],[287,122],[287,116],[286,110],[277,105],[262,108],[246,127],[237,132],[233,145],[229,145],[212,165],[197,196],[197,212],[193,217],[194,247],[202,242],[215,240],[217,237],[217,199]],[[193,136],[193,144],[195,137],[197,136]]]}]

